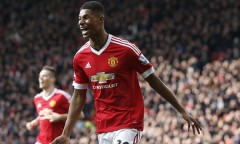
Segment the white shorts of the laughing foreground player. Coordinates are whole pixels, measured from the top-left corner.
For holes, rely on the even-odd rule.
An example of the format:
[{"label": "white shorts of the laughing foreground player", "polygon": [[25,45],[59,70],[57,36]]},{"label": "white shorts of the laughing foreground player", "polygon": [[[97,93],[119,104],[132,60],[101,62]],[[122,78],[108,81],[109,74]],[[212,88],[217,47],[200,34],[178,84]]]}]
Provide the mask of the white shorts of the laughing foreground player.
[{"label": "white shorts of the laughing foreground player", "polygon": [[142,131],[136,129],[120,129],[98,134],[99,144],[139,144]]}]

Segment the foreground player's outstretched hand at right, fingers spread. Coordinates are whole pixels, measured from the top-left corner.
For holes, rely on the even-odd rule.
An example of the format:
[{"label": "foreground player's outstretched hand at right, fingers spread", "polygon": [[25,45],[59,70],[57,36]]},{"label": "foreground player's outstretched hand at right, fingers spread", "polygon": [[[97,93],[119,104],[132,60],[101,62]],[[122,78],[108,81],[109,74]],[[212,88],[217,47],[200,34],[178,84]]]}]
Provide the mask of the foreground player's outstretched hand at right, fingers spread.
[{"label": "foreground player's outstretched hand at right, fingers spread", "polygon": [[188,123],[188,131],[190,130],[190,127],[193,129],[193,134],[195,135],[195,130],[197,130],[198,134],[200,134],[200,131],[202,131],[201,125],[199,122],[197,122],[190,114],[188,113],[182,113],[183,119],[185,119]]}]

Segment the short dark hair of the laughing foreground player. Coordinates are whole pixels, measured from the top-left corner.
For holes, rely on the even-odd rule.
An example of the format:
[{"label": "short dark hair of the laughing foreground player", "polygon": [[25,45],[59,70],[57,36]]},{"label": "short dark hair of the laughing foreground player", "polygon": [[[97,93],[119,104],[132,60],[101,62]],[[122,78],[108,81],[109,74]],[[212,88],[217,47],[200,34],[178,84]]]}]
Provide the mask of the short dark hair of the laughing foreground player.
[{"label": "short dark hair of the laughing foreground player", "polygon": [[86,2],[81,6],[80,11],[82,9],[89,9],[89,10],[92,10],[94,12],[104,14],[104,6],[98,1]]}]

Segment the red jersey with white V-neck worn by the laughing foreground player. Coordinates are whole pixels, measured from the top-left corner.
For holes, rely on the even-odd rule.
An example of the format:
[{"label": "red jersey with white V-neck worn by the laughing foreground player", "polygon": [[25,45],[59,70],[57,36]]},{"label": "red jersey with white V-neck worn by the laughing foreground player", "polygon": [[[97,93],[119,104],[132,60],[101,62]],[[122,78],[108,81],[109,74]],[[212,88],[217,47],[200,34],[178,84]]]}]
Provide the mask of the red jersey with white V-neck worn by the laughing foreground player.
[{"label": "red jersey with white V-neck worn by the laughing foreground player", "polygon": [[134,44],[109,35],[96,51],[87,42],[74,56],[73,67],[74,88],[91,85],[98,133],[143,130],[144,104],[137,72],[146,78],[154,69]]}]

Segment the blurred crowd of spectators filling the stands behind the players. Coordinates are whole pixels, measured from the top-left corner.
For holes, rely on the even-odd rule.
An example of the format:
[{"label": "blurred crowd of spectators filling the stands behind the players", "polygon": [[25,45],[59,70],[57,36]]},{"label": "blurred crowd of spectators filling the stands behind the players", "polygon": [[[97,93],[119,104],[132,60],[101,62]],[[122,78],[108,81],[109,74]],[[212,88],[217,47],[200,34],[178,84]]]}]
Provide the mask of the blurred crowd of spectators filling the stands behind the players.
[{"label": "blurred crowd of spectators filling the stands behind the players", "polygon": [[[72,58],[85,42],[78,23],[86,0],[2,0],[0,3],[0,144],[32,144],[33,97],[42,66],[57,68],[57,87],[72,93]],[[145,129],[141,144],[240,143],[240,1],[103,1],[109,33],[135,43],[159,77],[197,117],[188,126],[141,78]],[[96,144],[91,92],[74,144]]]}]

